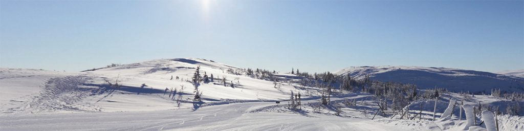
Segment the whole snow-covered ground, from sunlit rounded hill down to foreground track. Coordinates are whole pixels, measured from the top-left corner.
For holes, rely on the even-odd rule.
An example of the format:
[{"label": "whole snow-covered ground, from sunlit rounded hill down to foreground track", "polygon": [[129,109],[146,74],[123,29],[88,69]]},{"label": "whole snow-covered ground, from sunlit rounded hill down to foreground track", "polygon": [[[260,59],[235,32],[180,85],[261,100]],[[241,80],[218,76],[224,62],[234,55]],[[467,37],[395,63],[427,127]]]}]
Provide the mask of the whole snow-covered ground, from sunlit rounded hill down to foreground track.
[{"label": "whole snow-covered ground, from sunlit rounded hill down to foreground track", "polygon": [[[194,88],[188,81],[197,66],[201,75],[213,74],[215,80],[201,84],[203,103],[193,105]],[[431,121],[434,101],[409,105],[410,117],[421,111],[420,119],[375,116],[378,105],[372,94],[337,91],[324,106],[319,89],[288,82],[302,79],[296,75],[276,73],[280,82],[275,88],[272,81],[227,73],[228,69],[241,70],[196,58],[84,72],[0,69],[0,130],[462,130],[464,126],[464,119],[456,116],[458,107],[452,119]],[[226,86],[220,80],[224,77]],[[174,90],[172,97],[169,92]],[[291,91],[301,93],[301,110],[287,108]],[[438,118],[451,98],[462,96],[443,94],[437,103]],[[465,100],[478,102],[514,103],[487,95]],[[501,130],[524,130],[521,116],[500,116],[499,122]]]}]

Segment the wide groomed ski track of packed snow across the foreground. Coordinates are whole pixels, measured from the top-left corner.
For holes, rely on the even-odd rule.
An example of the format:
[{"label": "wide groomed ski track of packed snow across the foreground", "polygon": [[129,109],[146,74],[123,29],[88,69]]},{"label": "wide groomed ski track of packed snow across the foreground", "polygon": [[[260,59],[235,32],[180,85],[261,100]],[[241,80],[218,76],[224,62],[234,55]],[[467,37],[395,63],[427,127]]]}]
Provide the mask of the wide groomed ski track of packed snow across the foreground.
[{"label": "wide groomed ski track of packed snow across the foreground", "polygon": [[[285,113],[247,113],[252,102],[202,107],[197,111],[58,113],[0,116],[2,130],[402,130],[367,119]],[[216,116],[215,116],[216,114]],[[375,126],[364,127],[362,125]]]}]

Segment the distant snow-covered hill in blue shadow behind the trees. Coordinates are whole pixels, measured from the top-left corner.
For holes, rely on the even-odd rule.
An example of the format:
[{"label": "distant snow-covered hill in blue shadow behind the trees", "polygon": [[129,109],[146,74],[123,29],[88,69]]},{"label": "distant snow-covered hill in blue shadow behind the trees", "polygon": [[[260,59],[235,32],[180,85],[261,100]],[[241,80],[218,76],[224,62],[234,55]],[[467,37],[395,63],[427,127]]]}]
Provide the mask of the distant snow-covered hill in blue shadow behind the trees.
[{"label": "distant snow-covered hill in blue shadow behind the trees", "polygon": [[446,88],[450,91],[487,92],[492,89],[504,91],[524,91],[524,79],[505,75],[451,68],[379,66],[350,67],[335,72],[350,74],[352,78],[388,82],[413,83],[421,89]]}]

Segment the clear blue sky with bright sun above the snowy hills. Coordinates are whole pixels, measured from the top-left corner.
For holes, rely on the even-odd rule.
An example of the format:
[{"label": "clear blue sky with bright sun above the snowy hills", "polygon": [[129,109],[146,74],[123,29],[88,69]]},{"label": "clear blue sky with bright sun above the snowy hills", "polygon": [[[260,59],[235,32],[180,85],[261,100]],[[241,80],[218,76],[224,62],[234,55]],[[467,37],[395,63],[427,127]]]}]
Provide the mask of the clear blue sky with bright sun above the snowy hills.
[{"label": "clear blue sky with bright sun above the snowy hills", "polygon": [[0,67],[524,69],[523,1],[0,1]]}]

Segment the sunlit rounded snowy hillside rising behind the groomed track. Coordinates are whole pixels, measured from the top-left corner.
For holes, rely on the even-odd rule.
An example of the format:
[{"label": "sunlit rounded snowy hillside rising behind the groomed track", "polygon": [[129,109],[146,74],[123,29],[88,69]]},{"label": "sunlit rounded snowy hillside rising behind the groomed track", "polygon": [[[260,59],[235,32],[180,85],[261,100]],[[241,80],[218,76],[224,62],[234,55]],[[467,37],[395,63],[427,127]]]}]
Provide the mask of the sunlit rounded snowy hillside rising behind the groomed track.
[{"label": "sunlit rounded snowy hillside rising behind the groomed track", "polygon": [[[84,72],[36,72],[20,69],[12,73],[0,72],[3,92],[0,111],[13,112],[118,112],[156,111],[193,107],[193,85],[190,81],[196,67],[201,75],[214,75],[215,81],[203,83],[205,105],[234,103],[238,101],[277,101],[288,99],[292,84],[281,83],[274,88],[271,81],[247,75],[227,73],[228,69],[241,70],[231,65],[198,58],[159,59],[139,63],[99,68]],[[59,73],[59,74],[56,74]],[[27,77],[29,76],[29,77]],[[38,77],[40,76],[40,77]],[[171,80],[171,77],[173,79]],[[179,77],[179,79],[176,79]],[[227,86],[220,80],[226,77]],[[108,85],[118,81],[119,88]],[[234,87],[231,87],[231,82]],[[141,87],[142,84],[147,86]],[[182,86],[184,89],[182,90]],[[165,89],[177,90],[177,97],[165,94]],[[44,90],[42,90],[44,89]],[[304,97],[316,92],[302,92]],[[25,97],[20,97],[27,95]],[[181,105],[177,104],[178,96]]]}]

